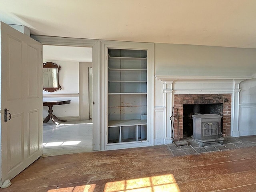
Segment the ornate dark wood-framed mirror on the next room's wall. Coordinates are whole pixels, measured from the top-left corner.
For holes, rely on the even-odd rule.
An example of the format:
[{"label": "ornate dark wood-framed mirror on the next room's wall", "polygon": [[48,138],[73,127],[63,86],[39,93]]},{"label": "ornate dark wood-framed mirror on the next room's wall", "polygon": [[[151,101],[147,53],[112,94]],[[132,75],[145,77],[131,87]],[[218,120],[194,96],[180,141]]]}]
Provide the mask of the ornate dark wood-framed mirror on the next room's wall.
[{"label": "ornate dark wood-framed mirror on the next room's wall", "polygon": [[52,62],[43,63],[43,90],[54,92],[61,89],[59,71],[59,65]]}]

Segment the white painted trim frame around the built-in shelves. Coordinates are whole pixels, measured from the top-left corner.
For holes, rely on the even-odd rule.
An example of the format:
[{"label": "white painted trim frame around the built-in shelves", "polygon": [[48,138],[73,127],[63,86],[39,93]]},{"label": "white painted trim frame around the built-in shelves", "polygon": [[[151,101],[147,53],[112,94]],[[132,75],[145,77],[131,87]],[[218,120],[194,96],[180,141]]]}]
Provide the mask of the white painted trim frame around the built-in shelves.
[{"label": "white painted trim frame around the built-in shelves", "polygon": [[[154,145],[154,44],[153,43],[136,43],[136,42],[118,42],[118,41],[101,41],[101,71],[102,71],[102,150],[134,148]],[[130,49],[147,51],[147,92],[146,93],[108,93],[108,49]],[[115,58],[120,59],[120,58]],[[130,58],[128,58],[130,59]],[[137,58],[136,58],[137,59]],[[134,60],[134,58],[132,58]],[[141,59],[140,59],[141,60]],[[147,140],[137,142],[123,142],[117,144],[108,144],[108,95],[111,94],[147,94]]]}]

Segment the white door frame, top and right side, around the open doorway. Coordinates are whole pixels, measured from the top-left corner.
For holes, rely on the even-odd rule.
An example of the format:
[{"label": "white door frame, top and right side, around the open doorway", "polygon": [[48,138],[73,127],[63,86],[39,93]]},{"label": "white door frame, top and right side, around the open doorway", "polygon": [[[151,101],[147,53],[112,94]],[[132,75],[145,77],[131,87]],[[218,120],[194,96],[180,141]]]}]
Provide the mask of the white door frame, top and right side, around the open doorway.
[{"label": "white door frame, top and right side, around the open doorway", "polygon": [[31,38],[37,40],[43,45],[62,45],[62,46],[80,46],[80,47],[92,47],[92,66],[93,66],[93,126],[92,126],[92,149],[101,149],[101,134],[100,127],[102,119],[102,102],[101,102],[101,68],[100,68],[100,41],[92,39],[79,39],[79,38],[65,38],[65,37],[53,37],[53,36],[37,36],[31,35]]}]

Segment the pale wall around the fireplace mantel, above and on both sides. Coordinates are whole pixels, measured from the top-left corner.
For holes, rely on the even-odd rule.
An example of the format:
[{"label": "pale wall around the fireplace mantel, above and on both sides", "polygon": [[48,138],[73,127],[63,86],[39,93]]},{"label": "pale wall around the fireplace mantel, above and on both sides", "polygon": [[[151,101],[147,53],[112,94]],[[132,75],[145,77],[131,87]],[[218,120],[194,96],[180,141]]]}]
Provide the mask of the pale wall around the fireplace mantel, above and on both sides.
[{"label": "pale wall around the fireplace mantel, above and on both sides", "polygon": [[[248,78],[256,74],[256,49],[156,43],[154,54],[155,75]],[[155,144],[163,144],[168,124],[161,114],[170,112],[165,111],[163,83],[156,79],[154,85],[154,140]],[[240,89],[240,135],[256,134],[256,79],[242,82]]]}]

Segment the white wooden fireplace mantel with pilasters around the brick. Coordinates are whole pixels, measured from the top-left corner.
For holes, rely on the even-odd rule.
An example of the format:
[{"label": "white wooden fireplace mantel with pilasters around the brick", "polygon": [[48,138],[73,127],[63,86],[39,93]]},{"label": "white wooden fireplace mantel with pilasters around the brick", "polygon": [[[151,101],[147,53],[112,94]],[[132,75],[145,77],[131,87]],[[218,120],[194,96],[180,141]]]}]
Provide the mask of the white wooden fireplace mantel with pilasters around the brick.
[{"label": "white wooden fireplace mantel with pilasters around the brick", "polygon": [[[163,113],[165,141],[172,142],[170,132],[170,116],[174,107],[175,94],[231,94],[231,132],[230,135],[240,136],[238,129],[240,83],[252,79],[251,76],[173,76],[156,75],[156,80],[162,82],[163,106],[155,107],[158,116]],[[157,121],[155,119],[155,121]],[[156,124],[160,124],[156,122]]]}]

